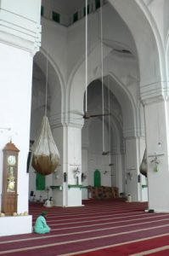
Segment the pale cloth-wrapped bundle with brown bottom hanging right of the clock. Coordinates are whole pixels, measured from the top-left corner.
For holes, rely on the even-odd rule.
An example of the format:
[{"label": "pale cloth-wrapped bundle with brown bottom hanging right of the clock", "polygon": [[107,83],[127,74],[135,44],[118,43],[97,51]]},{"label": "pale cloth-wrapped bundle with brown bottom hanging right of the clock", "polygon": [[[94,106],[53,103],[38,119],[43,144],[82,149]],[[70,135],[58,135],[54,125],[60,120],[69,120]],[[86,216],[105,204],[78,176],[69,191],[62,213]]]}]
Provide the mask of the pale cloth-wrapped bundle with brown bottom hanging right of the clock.
[{"label": "pale cloth-wrapped bundle with brown bottom hanging right of the clock", "polygon": [[51,174],[59,165],[59,151],[54,143],[47,116],[42,119],[40,136],[33,144],[32,154],[31,166],[42,175]]}]

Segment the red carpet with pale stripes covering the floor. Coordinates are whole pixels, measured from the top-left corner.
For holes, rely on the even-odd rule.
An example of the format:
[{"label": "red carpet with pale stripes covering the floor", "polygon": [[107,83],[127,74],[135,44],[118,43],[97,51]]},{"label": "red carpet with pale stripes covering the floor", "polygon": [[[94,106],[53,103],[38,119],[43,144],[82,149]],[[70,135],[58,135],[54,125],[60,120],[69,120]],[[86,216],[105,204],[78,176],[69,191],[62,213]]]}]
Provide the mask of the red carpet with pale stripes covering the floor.
[{"label": "red carpet with pale stripes covering the floor", "polygon": [[[52,231],[47,235],[0,237],[0,254],[169,255],[168,213],[144,212],[146,203],[99,200],[84,204],[84,207],[45,208]],[[30,204],[33,223],[43,210],[42,204]],[[152,251],[156,248],[161,251]]]}]

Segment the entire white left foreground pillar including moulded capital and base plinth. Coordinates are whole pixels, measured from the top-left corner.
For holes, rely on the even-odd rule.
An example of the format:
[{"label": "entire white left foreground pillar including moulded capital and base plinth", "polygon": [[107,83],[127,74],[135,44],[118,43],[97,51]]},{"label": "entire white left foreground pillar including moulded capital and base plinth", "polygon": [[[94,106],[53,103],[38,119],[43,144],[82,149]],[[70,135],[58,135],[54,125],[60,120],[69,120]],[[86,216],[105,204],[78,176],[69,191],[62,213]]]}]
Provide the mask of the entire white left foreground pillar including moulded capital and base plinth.
[{"label": "entire white left foreground pillar including moulded capital and base plinth", "polygon": [[[41,41],[40,8],[40,0],[2,0],[0,6],[0,180],[3,177],[2,149],[12,138],[20,149],[18,213],[28,212],[26,161],[30,137],[32,63]],[[25,217],[24,220],[23,225],[21,218],[17,218],[17,225],[12,230],[8,229],[8,234],[6,226],[1,231],[5,235],[31,232],[31,218]]]}]

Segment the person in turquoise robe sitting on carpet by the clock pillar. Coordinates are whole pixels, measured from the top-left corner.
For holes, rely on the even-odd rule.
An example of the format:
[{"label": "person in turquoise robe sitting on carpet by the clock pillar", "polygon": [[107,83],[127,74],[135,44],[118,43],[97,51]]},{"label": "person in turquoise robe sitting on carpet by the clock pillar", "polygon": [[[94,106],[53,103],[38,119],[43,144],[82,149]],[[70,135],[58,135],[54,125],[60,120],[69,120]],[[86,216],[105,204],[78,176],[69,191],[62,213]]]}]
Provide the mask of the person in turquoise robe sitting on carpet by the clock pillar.
[{"label": "person in turquoise robe sitting on carpet by the clock pillar", "polygon": [[50,227],[47,224],[46,221],[47,218],[47,212],[42,212],[41,215],[37,218],[34,231],[37,234],[46,234],[50,232]]}]

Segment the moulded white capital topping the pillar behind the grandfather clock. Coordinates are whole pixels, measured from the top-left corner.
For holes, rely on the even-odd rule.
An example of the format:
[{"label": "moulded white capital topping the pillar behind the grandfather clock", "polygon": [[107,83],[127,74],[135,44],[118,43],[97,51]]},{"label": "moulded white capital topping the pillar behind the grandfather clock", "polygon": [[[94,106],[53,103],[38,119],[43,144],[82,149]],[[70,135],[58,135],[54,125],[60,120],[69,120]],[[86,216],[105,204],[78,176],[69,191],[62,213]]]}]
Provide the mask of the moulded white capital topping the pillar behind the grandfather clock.
[{"label": "moulded white capital topping the pillar behind the grandfather clock", "polygon": [[[38,1],[38,2],[37,2]],[[4,0],[0,7],[0,38],[4,44],[29,51],[35,55],[41,45],[41,1],[15,1],[15,6]],[[11,1],[10,1],[11,2]],[[25,4],[25,5],[24,5]],[[29,10],[34,8],[33,15]],[[39,15],[39,19],[37,16]]]}]

